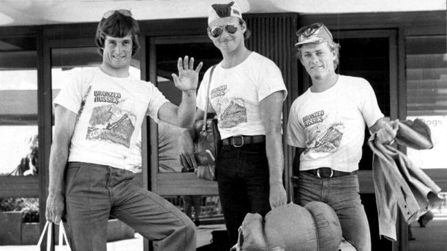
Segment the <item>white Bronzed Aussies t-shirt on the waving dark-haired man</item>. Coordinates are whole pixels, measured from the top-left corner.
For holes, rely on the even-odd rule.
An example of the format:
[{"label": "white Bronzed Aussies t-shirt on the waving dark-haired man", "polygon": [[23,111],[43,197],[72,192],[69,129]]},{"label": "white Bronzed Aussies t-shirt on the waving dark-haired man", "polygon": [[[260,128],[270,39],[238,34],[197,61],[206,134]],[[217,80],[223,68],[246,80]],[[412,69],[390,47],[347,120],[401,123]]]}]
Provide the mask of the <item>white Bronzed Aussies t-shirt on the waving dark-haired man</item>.
[{"label": "white Bronzed Aussies t-shirt on the waving dark-haired man", "polygon": [[146,112],[158,122],[158,110],[168,102],[150,82],[111,77],[96,68],[69,78],[53,103],[78,114],[84,97],[68,161],[121,169],[127,167]]}]

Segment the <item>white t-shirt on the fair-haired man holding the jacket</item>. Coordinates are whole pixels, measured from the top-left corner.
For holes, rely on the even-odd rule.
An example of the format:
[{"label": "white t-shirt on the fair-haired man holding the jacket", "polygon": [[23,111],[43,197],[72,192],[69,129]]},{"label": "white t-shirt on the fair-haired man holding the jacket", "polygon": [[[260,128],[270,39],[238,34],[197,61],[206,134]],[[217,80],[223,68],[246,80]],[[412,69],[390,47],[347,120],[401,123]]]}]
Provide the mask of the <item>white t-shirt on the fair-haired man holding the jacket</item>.
[{"label": "white t-shirt on the fair-haired man holding the jacket", "polygon": [[369,128],[382,117],[367,80],[339,75],[336,84],[326,91],[312,93],[309,88],[295,99],[286,142],[305,148],[300,170],[331,167],[355,171],[362,158],[364,124]]}]

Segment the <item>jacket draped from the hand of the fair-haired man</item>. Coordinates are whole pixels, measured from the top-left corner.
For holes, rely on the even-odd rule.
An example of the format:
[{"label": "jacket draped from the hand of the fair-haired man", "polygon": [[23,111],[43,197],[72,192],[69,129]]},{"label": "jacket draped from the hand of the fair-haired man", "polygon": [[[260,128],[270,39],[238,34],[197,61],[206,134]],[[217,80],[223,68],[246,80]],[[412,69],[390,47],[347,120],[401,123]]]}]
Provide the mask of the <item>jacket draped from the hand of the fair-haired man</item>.
[{"label": "jacket draped from the hand of the fair-haired man", "polygon": [[[426,211],[438,206],[441,189],[405,154],[391,145],[382,145],[371,135],[368,145],[374,153],[373,181],[378,208],[379,234],[396,240],[397,206],[410,224]],[[417,150],[430,149],[430,128],[419,119],[400,121],[396,142]]]}]

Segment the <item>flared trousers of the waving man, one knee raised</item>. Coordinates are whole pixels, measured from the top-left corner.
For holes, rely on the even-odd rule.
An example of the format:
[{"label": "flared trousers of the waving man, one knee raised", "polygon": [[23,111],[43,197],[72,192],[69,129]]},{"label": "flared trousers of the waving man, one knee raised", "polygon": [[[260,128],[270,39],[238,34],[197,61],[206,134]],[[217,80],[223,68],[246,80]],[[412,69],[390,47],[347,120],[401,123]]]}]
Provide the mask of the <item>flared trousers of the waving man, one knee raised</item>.
[{"label": "flared trousers of the waving man, one knee raised", "polygon": [[195,226],[173,204],[130,184],[131,171],[69,163],[65,176],[67,235],[74,251],[105,251],[109,215],[151,241],[156,250],[195,250]]}]

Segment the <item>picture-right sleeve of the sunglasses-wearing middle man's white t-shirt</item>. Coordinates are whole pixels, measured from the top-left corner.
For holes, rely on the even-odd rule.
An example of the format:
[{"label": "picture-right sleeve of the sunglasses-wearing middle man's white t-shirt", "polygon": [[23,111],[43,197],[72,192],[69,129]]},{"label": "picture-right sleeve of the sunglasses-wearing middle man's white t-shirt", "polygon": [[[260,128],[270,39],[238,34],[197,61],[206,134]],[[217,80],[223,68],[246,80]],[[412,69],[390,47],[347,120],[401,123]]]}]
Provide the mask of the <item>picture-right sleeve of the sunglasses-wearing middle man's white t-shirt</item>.
[{"label": "picture-right sleeve of the sunglasses-wearing middle man's white t-shirt", "polygon": [[256,71],[259,71],[258,101],[276,91],[282,91],[283,100],[285,100],[287,89],[285,88],[283,75],[276,64],[271,60],[263,60],[263,63]]}]

